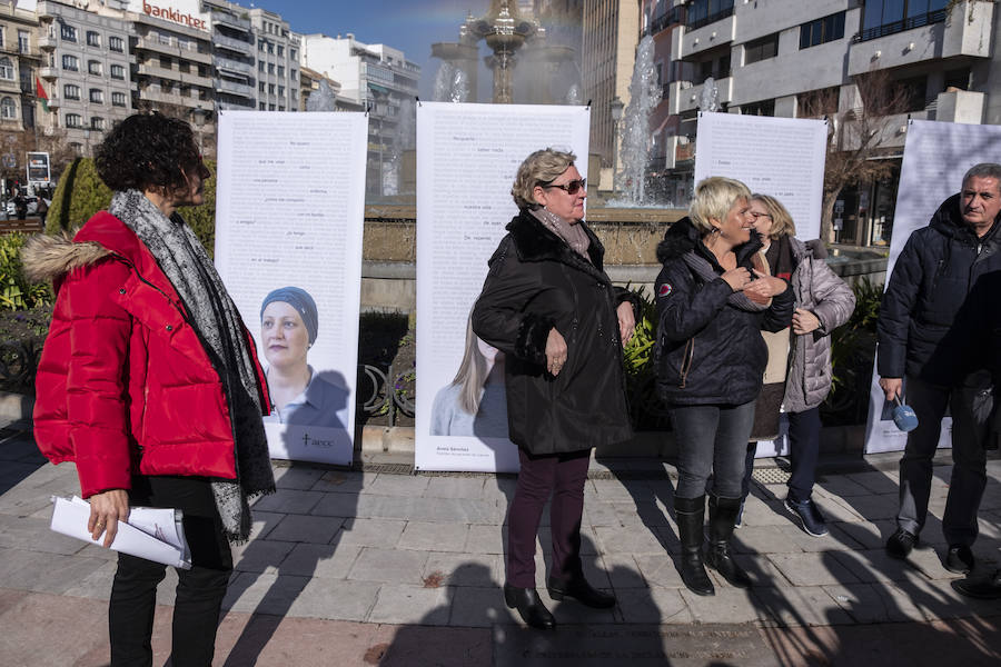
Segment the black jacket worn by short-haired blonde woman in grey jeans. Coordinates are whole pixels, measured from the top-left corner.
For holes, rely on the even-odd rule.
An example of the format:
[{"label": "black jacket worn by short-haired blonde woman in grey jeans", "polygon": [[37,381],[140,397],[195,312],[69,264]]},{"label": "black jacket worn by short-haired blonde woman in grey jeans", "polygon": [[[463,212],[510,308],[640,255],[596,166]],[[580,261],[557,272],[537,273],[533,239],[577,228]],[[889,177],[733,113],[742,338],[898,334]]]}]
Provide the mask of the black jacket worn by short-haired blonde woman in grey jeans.
[{"label": "black jacket worn by short-haired blonde woman in grey jeans", "polygon": [[[761,238],[737,246],[737,266],[751,267]],[[685,263],[694,251],[720,276],[705,281]],[[657,389],[668,406],[742,405],[757,398],[769,350],[761,330],[781,331],[793,313],[793,291],[772,298],[761,312],[729,303],[733,293],[723,268],[688,218],[671,226],[657,246]]]}]

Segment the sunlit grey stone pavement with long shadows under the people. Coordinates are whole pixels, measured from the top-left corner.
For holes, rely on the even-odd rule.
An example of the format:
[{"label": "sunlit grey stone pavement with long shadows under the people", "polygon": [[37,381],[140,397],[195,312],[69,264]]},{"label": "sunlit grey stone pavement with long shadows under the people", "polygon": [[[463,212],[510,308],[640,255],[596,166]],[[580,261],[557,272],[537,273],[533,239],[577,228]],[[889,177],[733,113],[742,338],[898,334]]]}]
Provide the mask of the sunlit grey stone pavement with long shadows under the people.
[{"label": "sunlit grey stone pavement with long shadows under the people", "polygon": [[[783,474],[762,461],[735,540],[756,585],[712,573],[714,597],[692,595],[674,565],[673,467],[595,462],[585,567],[618,605],[551,603],[553,634],[522,627],[499,593],[513,477],[276,466],[279,491],[256,504],[254,537],[235,551],[216,665],[998,665],[1001,601],[962,598],[940,561],[948,460],[906,563],[882,549],[895,456],[821,476],[824,538],[793,524]],[[73,467],[44,464],[23,422],[0,430],[0,665],[106,665],[115,556],[48,529],[50,496],[78,492]],[[989,476],[975,576],[1001,566],[1001,461]],[[545,526],[539,537],[544,591]],[[160,587],[158,666],[174,580]]]}]

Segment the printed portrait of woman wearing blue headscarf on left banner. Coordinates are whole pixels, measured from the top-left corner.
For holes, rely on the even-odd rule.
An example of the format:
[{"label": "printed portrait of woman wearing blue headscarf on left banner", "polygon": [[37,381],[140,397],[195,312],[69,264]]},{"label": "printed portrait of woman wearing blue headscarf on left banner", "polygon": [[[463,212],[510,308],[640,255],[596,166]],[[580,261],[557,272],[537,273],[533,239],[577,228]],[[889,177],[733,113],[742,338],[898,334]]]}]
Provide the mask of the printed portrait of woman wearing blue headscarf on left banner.
[{"label": "printed portrait of woman wearing blue headscarf on left banner", "polygon": [[305,289],[280,287],[261,302],[260,342],[271,396],[265,422],[344,428],[338,415],[347,406],[344,382],[307,364],[318,327],[316,301]]}]

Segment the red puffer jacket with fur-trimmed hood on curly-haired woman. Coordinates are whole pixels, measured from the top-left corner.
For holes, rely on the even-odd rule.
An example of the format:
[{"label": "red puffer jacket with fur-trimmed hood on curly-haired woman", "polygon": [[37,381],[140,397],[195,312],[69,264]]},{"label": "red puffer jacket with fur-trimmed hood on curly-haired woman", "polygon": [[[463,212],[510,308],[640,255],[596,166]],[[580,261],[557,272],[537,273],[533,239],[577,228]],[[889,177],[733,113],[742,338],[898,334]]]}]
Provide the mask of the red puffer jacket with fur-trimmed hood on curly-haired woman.
[{"label": "red puffer jacket with fur-trimmed hood on curly-haired woman", "polygon": [[[222,384],[149,249],[101,211],[72,241],[36,237],[26,271],[58,297],[36,379],[34,438],[76,461],[83,497],[146,475],[234,479]],[[260,402],[270,405],[254,340]]]}]

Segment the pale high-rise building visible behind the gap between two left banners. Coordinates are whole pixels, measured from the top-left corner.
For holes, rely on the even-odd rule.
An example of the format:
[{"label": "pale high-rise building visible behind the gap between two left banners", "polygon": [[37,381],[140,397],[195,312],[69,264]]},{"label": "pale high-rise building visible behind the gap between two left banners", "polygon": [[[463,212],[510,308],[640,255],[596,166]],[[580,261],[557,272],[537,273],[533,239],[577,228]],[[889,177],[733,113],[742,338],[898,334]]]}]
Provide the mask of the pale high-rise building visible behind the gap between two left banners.
[{"label": "pale high-rise building visible behind the gap between two left banners", "polygon": [[400,143],[397,132],[414,127],[413,119],[402,119],[402,111],[413,110],[409,102],[417,97],[420,67],[403,51],[365,44],[350,33],[344,38],[306,34],[303,54],[305,67],[340,82],[340,94],[368,110],[366,188],[369,195],[381,195],[394,169],[395,146]]}]

